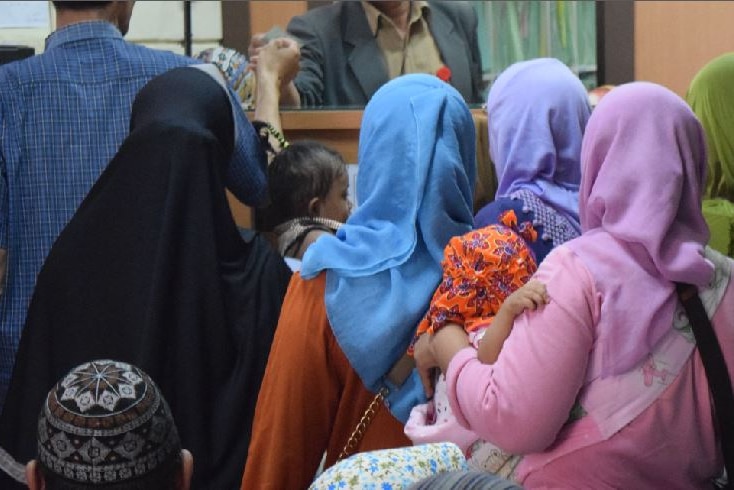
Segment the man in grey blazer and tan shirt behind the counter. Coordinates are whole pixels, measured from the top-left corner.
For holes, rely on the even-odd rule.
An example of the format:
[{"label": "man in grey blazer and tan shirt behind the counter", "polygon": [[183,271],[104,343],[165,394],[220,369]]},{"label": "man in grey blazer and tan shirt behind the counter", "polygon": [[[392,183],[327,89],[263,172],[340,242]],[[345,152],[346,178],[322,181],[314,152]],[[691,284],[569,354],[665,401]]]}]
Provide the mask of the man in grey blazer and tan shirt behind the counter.
[{"label": "man in grey blazer and tan shirt behind the counter", "polygon": [[[467,2],[334,2],[293,17],[288,34],[301,44],[300,70],[281,106],[364,106],[388,80],[436,74],[468,103],[480,102],[477,16]],[[257,56],[266,36],[253,36]]]}]

